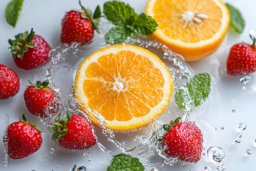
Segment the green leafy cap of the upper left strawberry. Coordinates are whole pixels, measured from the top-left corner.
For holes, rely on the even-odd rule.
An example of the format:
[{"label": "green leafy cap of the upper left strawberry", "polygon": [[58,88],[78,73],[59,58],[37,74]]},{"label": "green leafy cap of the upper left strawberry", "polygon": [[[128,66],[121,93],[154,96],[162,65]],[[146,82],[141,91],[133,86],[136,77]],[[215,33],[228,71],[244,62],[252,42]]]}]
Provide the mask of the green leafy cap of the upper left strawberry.
[{"label": "green leafy cap of the upper left strawberry", "polygon": [[28,48],[34,48],[35,44],[30,44],[30,41],[33,39],[35,32],[33,28],[31,32],[28,34],[28,31],[25,33],[19,33],[15,36],[15,40],[9,39],[8,42],[11,45],[9,49],[11,49],[12,54],[17,54],[20,59],[23,59],[24,53],[28,52]]}]

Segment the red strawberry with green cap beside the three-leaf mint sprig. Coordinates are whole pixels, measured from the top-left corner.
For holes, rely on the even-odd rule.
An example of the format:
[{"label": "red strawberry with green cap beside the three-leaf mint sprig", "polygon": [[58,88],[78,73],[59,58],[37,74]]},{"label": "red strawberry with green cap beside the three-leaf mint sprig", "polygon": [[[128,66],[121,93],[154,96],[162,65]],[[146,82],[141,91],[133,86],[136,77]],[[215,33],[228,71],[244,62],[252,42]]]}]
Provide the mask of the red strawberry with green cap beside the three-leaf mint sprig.
[{"label": "red strawberry with green cap beside the three-leaf mint sprig", "polygon": [[88,44],[97,29],[99,17],[101,15],[100,7],[97,6],[94,15],[90,10],[86,10],[79,1],[80,10],[68,12],[62,19],[61,42],[78,42],[81,45]]}]

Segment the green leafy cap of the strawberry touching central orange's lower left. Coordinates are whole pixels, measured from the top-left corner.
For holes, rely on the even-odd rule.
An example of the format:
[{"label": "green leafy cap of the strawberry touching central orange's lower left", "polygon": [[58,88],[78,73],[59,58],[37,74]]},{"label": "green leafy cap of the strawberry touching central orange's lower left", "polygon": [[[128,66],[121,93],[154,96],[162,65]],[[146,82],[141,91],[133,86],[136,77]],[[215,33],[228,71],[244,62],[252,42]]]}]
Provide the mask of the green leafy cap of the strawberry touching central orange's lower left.
[{"label": "green leafy cap of the strawberry touching central orange's lower left", "polygon": [[47,129],[53,132],[52,141],[59,140],[62,136],[68,133],[67,124],[69,124],[72,113],[66,113],[63,118],[60,120],[60,114],[56,117],[54,123],[50,123],[54,126],[49,126]]}]

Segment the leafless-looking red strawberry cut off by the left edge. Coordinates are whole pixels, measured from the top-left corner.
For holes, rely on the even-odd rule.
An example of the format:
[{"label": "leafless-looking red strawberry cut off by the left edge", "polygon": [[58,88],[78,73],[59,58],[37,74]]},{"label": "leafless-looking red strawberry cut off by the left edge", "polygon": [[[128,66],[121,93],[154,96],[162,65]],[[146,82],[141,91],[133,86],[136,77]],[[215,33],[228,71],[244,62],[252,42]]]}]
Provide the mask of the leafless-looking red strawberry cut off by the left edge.
[{"label": "leafless-looking red strawberry cut off by the left edge", "polygon": [[9,67],[0,64],[0,99],[7,99],[19,91],[19,78]]}]

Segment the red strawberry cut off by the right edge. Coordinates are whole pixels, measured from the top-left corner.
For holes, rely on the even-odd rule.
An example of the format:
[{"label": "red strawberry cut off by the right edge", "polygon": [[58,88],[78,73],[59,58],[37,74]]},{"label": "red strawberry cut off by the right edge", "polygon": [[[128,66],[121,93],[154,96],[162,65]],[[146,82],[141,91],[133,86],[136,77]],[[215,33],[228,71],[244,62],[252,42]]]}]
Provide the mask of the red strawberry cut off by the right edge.
[{"label": "red strawberry cut off by the right edge", "polygon": [[256,71],[256,39],[252,45],[245,43],[234,45],[227,58],[227,73],[230,75],[245,75]]}]

